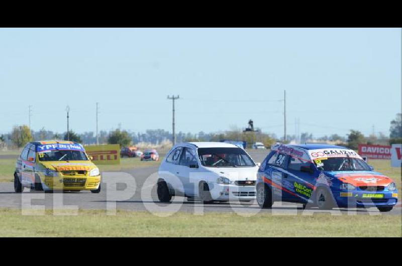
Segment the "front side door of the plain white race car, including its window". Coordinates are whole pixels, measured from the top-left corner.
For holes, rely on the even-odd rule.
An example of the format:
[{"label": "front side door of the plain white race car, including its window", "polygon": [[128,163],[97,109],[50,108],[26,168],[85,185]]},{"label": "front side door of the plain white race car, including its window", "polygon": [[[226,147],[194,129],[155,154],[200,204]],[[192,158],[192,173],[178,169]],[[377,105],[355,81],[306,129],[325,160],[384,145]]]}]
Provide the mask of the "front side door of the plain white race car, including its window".
[{"label": "front side door of the plain white race car, including its window", "polygon": [[192,148],[184,147],[180,157],[177,176],[183,184],[184,194],[186,196],[195,196],[198,193],[197,173],[198,161],[196,152]]}]

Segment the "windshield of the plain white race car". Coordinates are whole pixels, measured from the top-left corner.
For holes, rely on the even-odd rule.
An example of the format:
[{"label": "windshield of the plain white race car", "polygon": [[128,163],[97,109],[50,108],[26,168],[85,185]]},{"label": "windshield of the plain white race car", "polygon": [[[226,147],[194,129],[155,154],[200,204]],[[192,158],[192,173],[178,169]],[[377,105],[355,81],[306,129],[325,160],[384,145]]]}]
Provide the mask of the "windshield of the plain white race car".
[{"label": "windshield of the plain white race car", "polygon": [[206,167],[253,167],[253,160],[240,148],[199,148],[199,161]]}]

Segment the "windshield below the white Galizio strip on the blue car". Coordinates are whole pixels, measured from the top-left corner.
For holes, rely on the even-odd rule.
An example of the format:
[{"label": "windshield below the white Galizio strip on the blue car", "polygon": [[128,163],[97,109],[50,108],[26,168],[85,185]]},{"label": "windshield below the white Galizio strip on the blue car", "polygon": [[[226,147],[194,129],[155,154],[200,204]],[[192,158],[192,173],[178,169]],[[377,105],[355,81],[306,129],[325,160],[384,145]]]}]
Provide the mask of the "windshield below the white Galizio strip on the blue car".
[{"label": "windshield below the white Galizio strip on the blue car", "polygon": [[332,157],[314,160],[319,170],[323,171],[371,171],[370,167],[359,158]]}]

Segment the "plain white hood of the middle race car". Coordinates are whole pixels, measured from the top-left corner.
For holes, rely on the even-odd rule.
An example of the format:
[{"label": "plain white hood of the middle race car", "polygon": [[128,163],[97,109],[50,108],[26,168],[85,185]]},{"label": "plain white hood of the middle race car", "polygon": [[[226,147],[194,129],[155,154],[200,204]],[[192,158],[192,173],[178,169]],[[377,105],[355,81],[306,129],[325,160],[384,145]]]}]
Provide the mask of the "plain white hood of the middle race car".
[{"label": "plain white hood of the middle race car", "polygon": [[257,180],[258,166],[254,167],[205,167],[218,176],[229,178],[231,181]]}]

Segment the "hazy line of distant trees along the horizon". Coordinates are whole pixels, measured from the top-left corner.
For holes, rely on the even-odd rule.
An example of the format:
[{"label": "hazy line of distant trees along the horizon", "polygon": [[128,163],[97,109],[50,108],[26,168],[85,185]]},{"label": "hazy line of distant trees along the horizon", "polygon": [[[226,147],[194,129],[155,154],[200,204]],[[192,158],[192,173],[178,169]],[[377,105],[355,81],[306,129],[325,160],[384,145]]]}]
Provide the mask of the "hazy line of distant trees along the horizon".
[{"label": "hazy line of distant trees along the horizon", "polygon": [[[389,137],[383,134],[364,136],[358,130],[350,130],[350,133],[346,137],[333,134],[331,136],[323,136],[320,138],[313,138],[313,134],[309,132],[302,132],[300,137],[295,135],[287,135],[286,142],[282,138],[277,138],[274,134],[268,134],[261,132],[243,132],[241,129],[232,126],[229,130],[221,132],[199,131],[197,134],[191,134],[190,132],[184,133],[179,131],[176,134],[177,143],[180,142],[219,142],[222,140],[228,141],[246,141],[247,145],[251,147],[254,142],[262,142],[266,147],[270,147],[276,142],[281,143],[306,143],[311,141],[332,142],[339,145],[348,146],[351,149],[357,150],[359,144],[379,144],[390,145],[394,143],[402,143],[402,114],[398,113],[395,119],[390,121]],[[92,131],[76,133],[70,130],[69,134],[63,132],[59,134],[52,130],[46,130],[42,128],[38,131],[30,130],[27,125],[14,126],[12,132],[0,136],[0,142],[12,145],[14,147],[21,148],[27,142],[41,141],[41,140],[69,140],[82,144],[95,144],[96,135]],[[119,144],[120,146],[135,145],[140,142],[150,144],[160,144],[163,141],[171,140],[172,134],[164,129],[147,129],[145,132],[132,132],[127,130],[115,129],[100,130],[98,134],[99,144]]]}]

